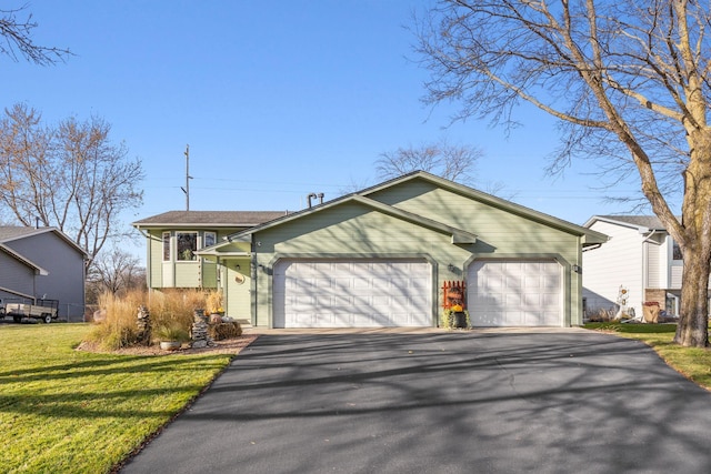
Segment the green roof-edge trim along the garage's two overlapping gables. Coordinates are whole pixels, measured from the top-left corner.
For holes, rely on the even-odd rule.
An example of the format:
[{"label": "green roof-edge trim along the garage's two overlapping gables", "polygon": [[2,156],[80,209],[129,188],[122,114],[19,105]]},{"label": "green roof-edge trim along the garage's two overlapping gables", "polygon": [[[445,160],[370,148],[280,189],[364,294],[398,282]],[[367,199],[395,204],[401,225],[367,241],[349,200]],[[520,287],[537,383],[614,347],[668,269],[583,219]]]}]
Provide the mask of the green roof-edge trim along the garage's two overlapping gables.
[{"label": "green roof-edge trim along the garage's two overlapping gables", "polygon": [[[391,188],[393,185],[401,184],[401,183],[404,183],[404,182],[411,181],[411,180],[429,181],[429,182],[432,182],[432,183],[434,183],[435,185],[438,185],[440,188],[451,190],[451,191],[457,192],[459,194],[463,194],[465,196],[469,196],[469,198],[475,199],[478,201],[481,201],[483,203],[487,203],[489,205],[492,205],[492,206],[495,206],[495,208],[499,208],[499,209],[503,209],[503,210],[505,210],[508,212],[525,216],[525,218],[531,219],[533,221],[544,223],[547,225],[563,230],[565,232],[570,232],[570,233],[575,234],[575,235],[583,236],[583,245],[598,244],[598,243],[603,243],[603,242],[608,241],[608,236],[602,234],[602,233],[600,233],[600,232],[597,232],[597,231],[593,231],[591,229],[587,229],[587,228],[583,228],[583,226],[580,226],[580,225],[577,225],[577,224],[572,224],[572,223],[563,221],[561,219],[553,218],[551,215],[544,214],[542,212],[538,212],[538,211],[534,211],[532,209],[528,209],[528,208],[525,208],[523,205],[514,204],[514,203],[512,203],[510,201],[503,200],[501,198],[493,196],[491,194],[487,194],[487,193],[481,192],[481,191],[477,191],[477,190],[474,190],[472,188],[469,188],[469,186],[465,186],[463,184],[458,184],[458,183],[454,183],[453,181],[449,181],[449,180],[445,180],[443,178],[435,177],[435,175],[433,175],[431,173],[428,173],[425,171],[414,171],[414,172],[404,174],[404,175],[402,175],[400,178],[394,178],[394,179],[391,179],[391,180],[385,181],[383,183],[373,185],[371,188],[367,188],[367,189],[364,189],[362,191],[358,191],[358,192],[354,192],[354,193],[351,193],[351,194],[347,194],[347,195],[343,195],[341,198],[337,198],[334,200],[324,202],[323,204],[318,204],[318,205],[314,205],[313,208],[304,209],[304,210],[297,211],[297,212],[293,212],[293,213],[288,214],[288,215],[283,215],[280,219],[276,219],[273,221],[266,222],[266,223],[263,223],[261,225],[256,225],[256,226],[253,226],[251,229],[247,229],[244,231],[237,232],[237,233],[234,233],[232,235],[228,235],[227,241],[230,241],[230,242],[232,242],[232,241],[244,241],[244,240],[248,240],[249,235],[251,235],[254,232],[262,231],[262,230],[266,230],[266,229],[270,229],[270,228],[273,228],[276,225],[281,225],[281,224],[286,223],[286,222],[290,222],[292,220],[300,219],[300,218],[302,218],[304,215],[309,215],[309,214],[312,214],[314,212],[321,212],[321,211],[323,211],[326,209],[333,208],[336,205],[341,205],[341,204],[347,203],[347,202],[358,202],[360,204],[364,204],[364,205],[371,206],[373,209],[377,209],[380,212],[384,212],[384,213],[390,214],[392,216],[395,216],[398,219],[402,219],[402,220],[405,220],[405,221],[418,223],[420,225],[423,225],[423,226],[427,226],[427,228],[430,228],[430,229],[433,229],[433,230],[439,230],[441,232],[451,233],[452,243],[474,243],[475,242],[477,235],[472,234],[471,232],[468,232],[468,231],[464,231],[464,230],[461,230],[461,229],[452,228],[452,226],[447,225],[444,223],[437,222],[437,221],[433,221],[431,219],[423,218],[421,215],[418,215],[418,214],[401,210],[399,208],[395,208],[395,206],[392,206],[392,205],[389,205],[389,204],[385,204],[385,203],[382,203],[382,202],[379,202],[379,201],[377,201],[374,199],[369,198],[370,194],[372,194],[372,193],[374,193],[377,191],[380,191],[380,190],[383,190],[383,189],[387,189],[387,188]],[[217,246],[219,246],[221,244],[223,244],[223,243],[218,243]]]}]

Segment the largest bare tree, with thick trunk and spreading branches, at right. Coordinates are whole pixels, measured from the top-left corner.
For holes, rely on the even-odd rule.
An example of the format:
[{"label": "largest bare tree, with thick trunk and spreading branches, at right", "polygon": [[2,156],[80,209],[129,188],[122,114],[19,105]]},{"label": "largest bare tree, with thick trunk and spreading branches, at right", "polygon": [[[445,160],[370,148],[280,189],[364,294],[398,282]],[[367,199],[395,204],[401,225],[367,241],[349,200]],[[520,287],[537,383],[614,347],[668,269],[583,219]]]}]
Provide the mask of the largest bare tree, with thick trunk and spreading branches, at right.
[{"label": "largest bare tree, with thick trunk and spreading branches, at right", "polygon": [[562,125],[550,171],[597,157],[638,177],[683,252],[674,341],[689,346],[708,345],[710,24],[708,3],[688,0],[448,0],[418,22],[430,103],[511,123],[527,101]]}]

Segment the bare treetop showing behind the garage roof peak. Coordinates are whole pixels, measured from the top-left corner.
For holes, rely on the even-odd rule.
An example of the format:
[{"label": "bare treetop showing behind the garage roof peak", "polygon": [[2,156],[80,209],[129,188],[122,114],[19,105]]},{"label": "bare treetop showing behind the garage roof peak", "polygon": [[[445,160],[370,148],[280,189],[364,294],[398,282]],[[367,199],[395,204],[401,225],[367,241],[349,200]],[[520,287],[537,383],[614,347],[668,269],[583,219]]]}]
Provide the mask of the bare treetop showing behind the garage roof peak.
[{"label": "bare treetop showing behind the garage roof peak", "polygon": [[381,179],[421,170],[467,184],[473,180],[477,160],[482,155],[482,151],[474,147],[451,145],[440,140],[438,143],[381,153],[375,161],[375,170]]}]

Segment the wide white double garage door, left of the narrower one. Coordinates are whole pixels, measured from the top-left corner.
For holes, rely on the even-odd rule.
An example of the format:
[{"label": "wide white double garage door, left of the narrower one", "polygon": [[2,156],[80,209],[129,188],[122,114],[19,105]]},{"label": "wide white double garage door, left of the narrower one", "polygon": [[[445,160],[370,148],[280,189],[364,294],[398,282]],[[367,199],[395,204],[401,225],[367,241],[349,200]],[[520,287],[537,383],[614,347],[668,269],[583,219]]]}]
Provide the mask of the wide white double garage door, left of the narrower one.
[{"label": "wide white double garage door, left of the narrower one", "polygon": [[280,261],[273,326],[431,326],[430,274],[420,260]]}]

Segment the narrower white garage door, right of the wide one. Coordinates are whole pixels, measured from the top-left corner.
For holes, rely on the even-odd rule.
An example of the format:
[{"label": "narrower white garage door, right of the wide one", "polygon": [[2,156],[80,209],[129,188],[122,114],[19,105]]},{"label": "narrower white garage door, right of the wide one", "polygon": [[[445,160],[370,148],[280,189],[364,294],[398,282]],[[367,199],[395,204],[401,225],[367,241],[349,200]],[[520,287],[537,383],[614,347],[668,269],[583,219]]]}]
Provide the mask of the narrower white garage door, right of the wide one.
[{"label": "narrower white garage door, right of the wide one", "polygon": [[561,265],[554,260],[475,261],[468,272],[475,326],[562,326]]}]

